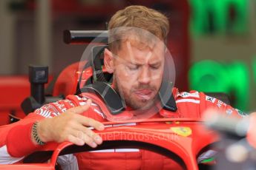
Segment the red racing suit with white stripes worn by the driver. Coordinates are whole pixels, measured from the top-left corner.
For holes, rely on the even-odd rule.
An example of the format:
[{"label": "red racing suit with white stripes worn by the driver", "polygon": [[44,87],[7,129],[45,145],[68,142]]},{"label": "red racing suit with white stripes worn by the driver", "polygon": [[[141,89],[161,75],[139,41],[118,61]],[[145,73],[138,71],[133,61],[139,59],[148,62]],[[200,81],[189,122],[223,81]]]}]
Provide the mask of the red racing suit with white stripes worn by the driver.
[{"label": "red racing suit with white stripes worn by the driver", "polygon": [[[209,108],[219,109],[227,115],[246,116],[243,112],[232,108],[216,98],[209,97],[202,92],[179,92],[173,89],[177,103],[176,112],[163,112],[160,117],[168,118],[201,118],[203,112]],[[85,97],[87,96],[87,97]],[[90,96],[90,95],[89,95]],[[23,120],[0,127],[0,164],[19,162],[24,156],[35,152],[40,147],[31,140],[33,123],[44,118],[53,118],[74,106],[84,105],[88,94],[68,95],[65,100],[49,103],[36,109]],[[93,103],[83,115],[99,121],[106,121],[103,107],[99,107],[100,100]],[[75,154],[79,169],[178,169],[177,163],[163,155],[139,149],[108,149],[102,152],[85,152]]]}]

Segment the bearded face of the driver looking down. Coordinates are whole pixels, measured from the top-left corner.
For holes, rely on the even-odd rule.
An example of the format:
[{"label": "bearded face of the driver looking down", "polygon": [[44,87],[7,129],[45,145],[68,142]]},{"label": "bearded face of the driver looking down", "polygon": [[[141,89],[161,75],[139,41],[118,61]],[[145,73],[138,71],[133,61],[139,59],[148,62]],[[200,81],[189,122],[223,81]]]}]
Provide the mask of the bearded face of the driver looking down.
[{"label": "bearded face of the driver looking down", "polygon": [[163,79],[163,42],[148,45],[128,39],[122,41],[116,55],[114,88],[132,109],[149,109],[154,105]]}]

